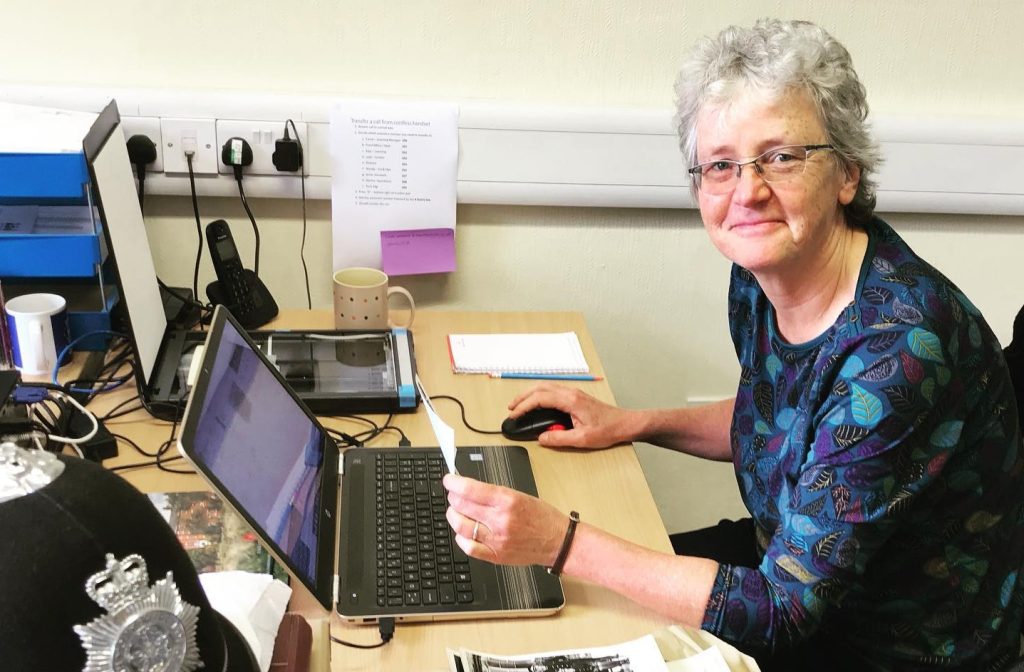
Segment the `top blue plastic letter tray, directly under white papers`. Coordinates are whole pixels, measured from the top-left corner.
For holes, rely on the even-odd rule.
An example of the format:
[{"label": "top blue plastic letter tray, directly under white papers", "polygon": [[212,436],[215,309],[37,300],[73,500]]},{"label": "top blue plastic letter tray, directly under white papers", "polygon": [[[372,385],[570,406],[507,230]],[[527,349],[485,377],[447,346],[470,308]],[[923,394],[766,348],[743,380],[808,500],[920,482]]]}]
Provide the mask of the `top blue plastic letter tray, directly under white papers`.
[{"label": "top blue plastic letter tray, directly under white papers", "polygon": [[0,202],[85,203],[88,183],[81,152],[0,154]]}]

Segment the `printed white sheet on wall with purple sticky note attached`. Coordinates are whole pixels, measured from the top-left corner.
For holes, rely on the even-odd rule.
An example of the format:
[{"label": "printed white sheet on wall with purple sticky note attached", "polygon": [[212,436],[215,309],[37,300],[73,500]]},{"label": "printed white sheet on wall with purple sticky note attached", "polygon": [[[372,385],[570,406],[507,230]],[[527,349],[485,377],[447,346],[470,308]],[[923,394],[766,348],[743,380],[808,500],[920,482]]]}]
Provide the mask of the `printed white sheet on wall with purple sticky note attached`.
[{"label": "printed white sheet on wall with purple sticky note attached", "polygon": [[395,276],[455,270],[458,165],[457,106],[335,102],[334,269],[370,266]]}]

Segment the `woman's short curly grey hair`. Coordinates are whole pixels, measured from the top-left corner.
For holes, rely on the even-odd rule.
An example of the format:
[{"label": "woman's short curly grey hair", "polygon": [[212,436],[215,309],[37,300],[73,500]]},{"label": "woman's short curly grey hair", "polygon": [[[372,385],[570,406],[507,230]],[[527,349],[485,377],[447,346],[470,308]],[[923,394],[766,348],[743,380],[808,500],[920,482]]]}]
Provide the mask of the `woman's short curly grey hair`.
[{"label": "woman's short curly grey hair", "polygon": [[[697,115],[707,104],[729,101],[738,85],[770,95],[794,89],[810,95],[841,164],[860,168],[857,193],[845,210],[849,223],[866,224],[874,212],[882,158],[866,121],[864,86],[846,47],[814,24],[774,18],[700,40],[676,80],[679,146],[689,166],[697,163]],[[696,187],[695,180],[691,185]]]}]

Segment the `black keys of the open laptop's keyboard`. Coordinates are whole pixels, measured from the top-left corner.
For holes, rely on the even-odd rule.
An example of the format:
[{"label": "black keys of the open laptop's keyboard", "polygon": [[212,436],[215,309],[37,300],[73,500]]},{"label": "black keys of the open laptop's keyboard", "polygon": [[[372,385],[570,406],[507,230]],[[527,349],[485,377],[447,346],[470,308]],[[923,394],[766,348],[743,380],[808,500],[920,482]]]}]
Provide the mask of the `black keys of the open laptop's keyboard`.
[{"label": "black keys of the open laptop's keyboard", "polygon": [[469,558],[444,517],[440,452],[376,455],[377,605],[473,601]]}]

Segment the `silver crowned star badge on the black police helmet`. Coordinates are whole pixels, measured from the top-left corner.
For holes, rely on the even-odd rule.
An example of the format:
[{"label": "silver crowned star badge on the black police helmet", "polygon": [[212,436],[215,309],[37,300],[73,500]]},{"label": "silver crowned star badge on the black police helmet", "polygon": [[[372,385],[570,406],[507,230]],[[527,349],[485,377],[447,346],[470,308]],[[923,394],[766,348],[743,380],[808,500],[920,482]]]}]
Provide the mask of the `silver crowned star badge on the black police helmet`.
[{"label": "silver crowned star badge on the black police helmet", "polygon": [[181,599],[173,575],[150,585],[141,555],[89,577],[85,592],[108,613],[76,625],[87,659],[83,672],[193,672],[203,667],[196,643],[199,607]]}]

